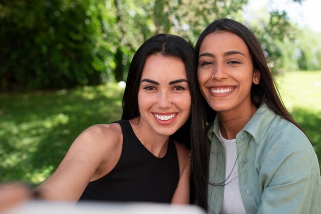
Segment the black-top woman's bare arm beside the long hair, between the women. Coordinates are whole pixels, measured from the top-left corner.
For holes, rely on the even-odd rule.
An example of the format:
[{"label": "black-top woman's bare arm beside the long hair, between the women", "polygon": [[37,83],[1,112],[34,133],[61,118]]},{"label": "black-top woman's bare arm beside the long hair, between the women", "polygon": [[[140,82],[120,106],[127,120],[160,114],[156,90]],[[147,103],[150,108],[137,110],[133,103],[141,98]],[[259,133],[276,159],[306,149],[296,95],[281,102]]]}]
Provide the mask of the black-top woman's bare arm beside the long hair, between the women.
[{"label": "black-top woman's bare arm beside the long hair, between the women", "polygon": [[190,177],[191,177],[191,158],[189,150],[175,142],[178,164],[179,181],[174,192],[171,204],[189,204],[190,203]]}]

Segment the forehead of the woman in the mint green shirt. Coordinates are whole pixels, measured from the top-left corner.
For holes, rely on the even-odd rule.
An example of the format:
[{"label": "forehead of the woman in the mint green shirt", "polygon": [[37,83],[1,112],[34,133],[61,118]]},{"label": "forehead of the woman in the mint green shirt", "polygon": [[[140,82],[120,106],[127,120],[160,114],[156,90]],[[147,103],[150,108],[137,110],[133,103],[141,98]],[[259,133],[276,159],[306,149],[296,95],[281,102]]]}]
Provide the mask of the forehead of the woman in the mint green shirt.
[{"label": "forehead of the woman in the mint green shirt", "polygon": [[240,50],[249,54],[249,49],[242,38],[228,31],[216,31],[204,37],[199,54],[204,52],[225,53],[231,50]]}]

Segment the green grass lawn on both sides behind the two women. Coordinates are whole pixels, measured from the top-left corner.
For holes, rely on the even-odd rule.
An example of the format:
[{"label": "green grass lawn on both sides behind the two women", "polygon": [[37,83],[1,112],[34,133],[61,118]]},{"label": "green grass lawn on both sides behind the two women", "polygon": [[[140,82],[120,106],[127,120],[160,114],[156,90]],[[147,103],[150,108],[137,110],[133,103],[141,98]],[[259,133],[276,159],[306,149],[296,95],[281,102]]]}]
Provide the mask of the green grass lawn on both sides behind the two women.
[{"label": "green grass lawn on both sides behind the two women", "polygon": [[[283,100],[321,160],[321,71],[277,78]],[[0,94],[0,182],[37,185],[87,127],[121,118],[116,83],[53,92]]]}]

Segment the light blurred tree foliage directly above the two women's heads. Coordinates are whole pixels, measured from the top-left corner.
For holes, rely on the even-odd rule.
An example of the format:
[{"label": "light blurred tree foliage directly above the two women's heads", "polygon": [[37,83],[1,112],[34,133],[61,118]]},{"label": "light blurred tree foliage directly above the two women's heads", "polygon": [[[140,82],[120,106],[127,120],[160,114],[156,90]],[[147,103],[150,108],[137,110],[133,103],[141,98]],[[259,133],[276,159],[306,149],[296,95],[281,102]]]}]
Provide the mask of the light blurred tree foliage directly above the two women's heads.
[{"label": "light blurred tree foliage directly above the two women's heads", "polygon": [[247,0],[114,0],[117,13],[117,51],[114,76],[126,79],[135,50],[158,33],[180,35],[194,44],[198,34],[214,19],[232,16],[242,10]]}]

